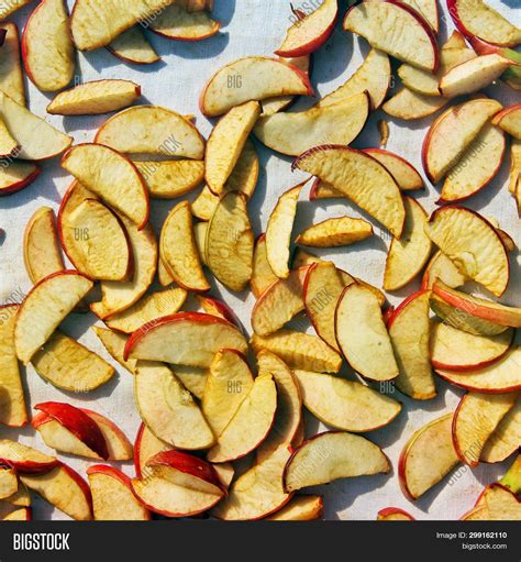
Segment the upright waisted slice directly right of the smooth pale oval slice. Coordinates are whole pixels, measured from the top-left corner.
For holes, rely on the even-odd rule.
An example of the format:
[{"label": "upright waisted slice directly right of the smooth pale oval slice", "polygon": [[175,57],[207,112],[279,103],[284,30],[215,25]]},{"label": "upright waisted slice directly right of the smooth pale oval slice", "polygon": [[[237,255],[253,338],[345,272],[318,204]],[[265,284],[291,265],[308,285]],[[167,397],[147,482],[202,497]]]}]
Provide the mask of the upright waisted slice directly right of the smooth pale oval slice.
[{"label": "upright waisted slice directly right of the smooth pale oval slice", "polygon": [[399,368],[396,385],[415,400],[436,396],[429,361],[429,290],[412,294],[397,307],[387,322]]}]

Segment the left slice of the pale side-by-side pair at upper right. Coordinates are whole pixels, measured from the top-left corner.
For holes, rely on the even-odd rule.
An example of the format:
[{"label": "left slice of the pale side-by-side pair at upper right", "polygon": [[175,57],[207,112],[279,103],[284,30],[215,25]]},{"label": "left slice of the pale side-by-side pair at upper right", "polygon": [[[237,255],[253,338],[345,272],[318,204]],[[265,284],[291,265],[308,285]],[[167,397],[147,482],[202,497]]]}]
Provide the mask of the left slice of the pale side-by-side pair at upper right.
[{"label": "left slice of the pale side-by-side pair at upper right", "polygon": [[500,110],[498,101],[478,98],[451,107],[433,122],[422,148],[423,168],[433,184],[456,165],[485,124]]}]

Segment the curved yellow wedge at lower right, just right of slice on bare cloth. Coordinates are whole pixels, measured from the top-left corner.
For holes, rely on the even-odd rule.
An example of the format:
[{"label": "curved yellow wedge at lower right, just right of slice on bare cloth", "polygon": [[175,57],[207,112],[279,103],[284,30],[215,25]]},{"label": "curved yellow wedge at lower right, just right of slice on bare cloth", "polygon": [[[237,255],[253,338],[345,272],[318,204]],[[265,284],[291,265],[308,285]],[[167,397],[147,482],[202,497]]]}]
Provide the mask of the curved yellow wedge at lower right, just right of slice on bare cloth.
[{"label": "curved yellow wedge at lower right, just right of slice on bare cloth", "polygon": [[453,422],[453,440],[459,460],[477,466],[485,443],[512,409],[517,393],[468,393],[459,401]]}]

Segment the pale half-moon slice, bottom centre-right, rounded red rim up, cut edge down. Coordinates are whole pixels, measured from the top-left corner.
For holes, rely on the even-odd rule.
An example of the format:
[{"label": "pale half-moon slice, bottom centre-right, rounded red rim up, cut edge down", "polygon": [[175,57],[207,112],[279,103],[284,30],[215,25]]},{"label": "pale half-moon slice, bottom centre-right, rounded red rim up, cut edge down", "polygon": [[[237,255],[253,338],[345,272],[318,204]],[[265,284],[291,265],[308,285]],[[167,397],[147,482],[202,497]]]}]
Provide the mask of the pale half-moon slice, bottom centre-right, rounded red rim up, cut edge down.
[{"label": "pale half-moon slice, bottom centre-right, rounded red rim up, cut edge down", "polygon": [[388,473],[390,463],[367,439],[343,431],[326,431],[298,447],[284,471],[284,488],[295,492],[337,478]]}]

